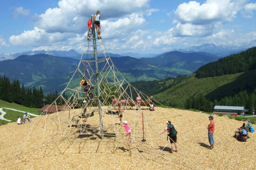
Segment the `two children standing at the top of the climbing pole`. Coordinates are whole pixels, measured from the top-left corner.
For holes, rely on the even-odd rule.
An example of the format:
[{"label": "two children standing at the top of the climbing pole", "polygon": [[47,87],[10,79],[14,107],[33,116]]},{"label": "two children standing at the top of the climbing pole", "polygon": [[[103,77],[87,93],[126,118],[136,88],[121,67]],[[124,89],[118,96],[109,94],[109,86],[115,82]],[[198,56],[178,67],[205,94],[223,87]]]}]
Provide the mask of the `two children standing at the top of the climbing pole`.
[{"label": "two children standing at the top of the climbing pole", "polygon": [[[101,15],[100,15],[100,11],[97,11],[96,14],[94,15],[94,24],[96,27],[96,31],[97,31],[97,38],[101,39],[101,23],[100,23],[100,19],[101,19]],[[89,18],[88,20],[88,37],[87,40],[91,40],[91,36],[92,36],[92,20],[91,18]]]}]

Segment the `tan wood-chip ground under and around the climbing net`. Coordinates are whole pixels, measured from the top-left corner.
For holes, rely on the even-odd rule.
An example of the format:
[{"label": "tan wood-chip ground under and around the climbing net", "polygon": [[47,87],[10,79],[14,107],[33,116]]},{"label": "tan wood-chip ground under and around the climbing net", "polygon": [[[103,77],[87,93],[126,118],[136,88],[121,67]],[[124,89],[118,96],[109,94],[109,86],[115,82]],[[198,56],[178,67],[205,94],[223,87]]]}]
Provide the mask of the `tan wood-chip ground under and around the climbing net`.
[{"label": "tan wood-chip ground under and around the climbing net", "polygon": [[[226,116],[214,116],[215,145],[212,150],[209,150],[207,149],[209,114],[161,107],[156,107],[155,110],[154,112],[144,111],[150,120],[144,122],[146,142],[141,142],[142,129],[133,128],[135,127],[133,120],[137,119],[133,116],[133,110],[126,110],[123,115],[123,120],[127,120],[132,129],[132,135],[136,133],[141,136],[133,139],[132,143],[126,142],[126,132],[123,127],[120,128],[117,137],[108,136],[110,132],[104,131],[106,134],[104,140],[101,140],[100,135],[79,135],[78,128],[74,126],[70,126],[69,136],[65,138],[54,133],[44,135],[45,130],[54,129],[58,122],[53,121],[45,125],[42,120],[53,120],[54,114],[48,115],[47,118],[46,116],[33,118],[32,123],[24,125],[13,122],[0,126],[0,167],[5,170],[255,169],[256,132],[249,133],[247,142],[239,142],[233,138],[234,131],[242,126],[242,121],[229,119]],[[118,119],[117,116],[116,119]],[[69,119],[68,113],[67,119]],[[112,119],[111,115],[104,115],[104,129],[110,129]],[[171,120],[178,131],[178,152],[168,152],[170,145],[166,140],[167,132],[157,135],[166,127],[167,120]],[[134,122],[142,123],[141,120]],[[90,121],[88,118],[88,125],[93,126],[98,123],[98,119]],[[253,126],[256,128],[255,125]],[[151,129],[150,133],[148,127]],[[93,130],[90,129],[90,131]],[[42,144],[43,138],[45,142]]]}]

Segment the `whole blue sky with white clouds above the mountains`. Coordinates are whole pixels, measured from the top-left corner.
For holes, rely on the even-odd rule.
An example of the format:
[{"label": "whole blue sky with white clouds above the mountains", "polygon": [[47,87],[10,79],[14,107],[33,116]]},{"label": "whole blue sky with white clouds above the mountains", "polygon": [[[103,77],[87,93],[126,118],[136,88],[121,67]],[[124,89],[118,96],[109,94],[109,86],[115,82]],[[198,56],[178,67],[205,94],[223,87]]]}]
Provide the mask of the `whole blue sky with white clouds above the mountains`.
[{"label": "whole blue sky with white clouds above the mountains", "polygon": [[256,39],[254,0],[0,0],[0,52],[83,50],[101,12],[108,52],[162,53]]}]

